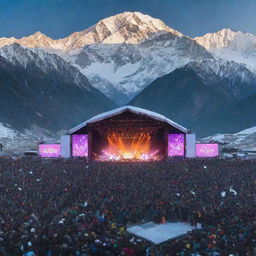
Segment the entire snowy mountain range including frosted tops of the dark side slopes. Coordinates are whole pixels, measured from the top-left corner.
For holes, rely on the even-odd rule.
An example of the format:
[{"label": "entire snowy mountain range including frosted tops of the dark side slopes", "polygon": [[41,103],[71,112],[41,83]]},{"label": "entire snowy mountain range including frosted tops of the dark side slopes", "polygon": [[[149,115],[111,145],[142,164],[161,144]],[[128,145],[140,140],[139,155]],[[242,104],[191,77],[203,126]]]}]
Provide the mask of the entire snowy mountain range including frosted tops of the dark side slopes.
[{"label": "entire snowy mountain range including frosted tops of the dark side slopes", "polygon": [[[28,57],[12,50],[13,44],[31,50],[39,59],[34,54]],[[256,36],[252,34],[223,29],[192,39],[139,12],[102,19],[88,29],[57,40],[41,32],[21,39],[0,38],[0,55],[5,58],[15,59],[23,66],[28,58],[35,58],[36,65],[41,59],[49,67],[60,68],[59,56],[119,104],[128,102],[158,77],[190,62],[198,62],[201,72],[205,62],[204,73],[214,73],[215,77],[251,80],[253,74],[247,69],[256,73],[255,49]],[[49,70],[47,66],[42,68]]]}]

